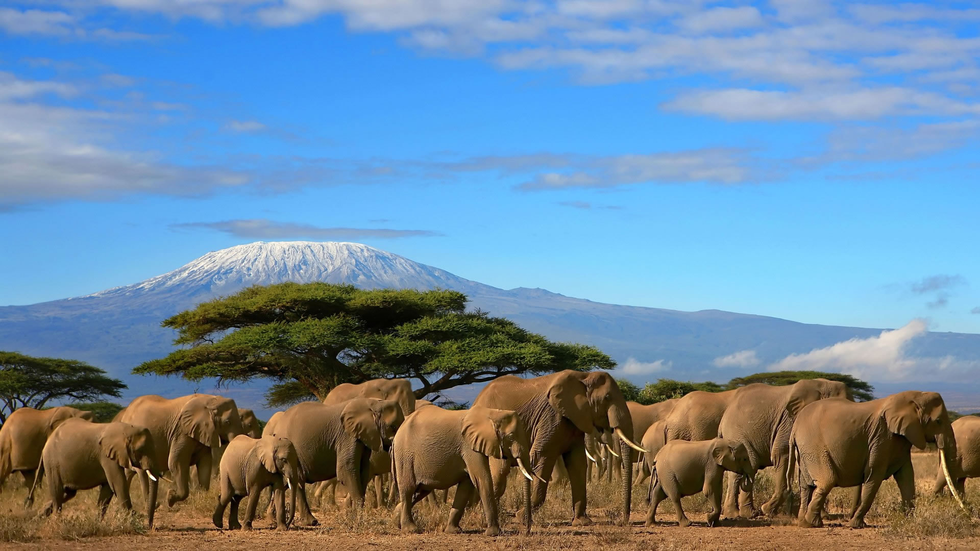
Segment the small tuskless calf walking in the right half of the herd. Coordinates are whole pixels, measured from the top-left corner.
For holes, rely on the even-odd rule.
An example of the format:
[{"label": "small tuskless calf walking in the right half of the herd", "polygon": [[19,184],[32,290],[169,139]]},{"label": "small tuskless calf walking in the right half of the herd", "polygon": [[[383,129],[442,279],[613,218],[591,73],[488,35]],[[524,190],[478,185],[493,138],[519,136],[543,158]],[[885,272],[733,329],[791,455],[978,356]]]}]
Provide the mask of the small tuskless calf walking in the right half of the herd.
[{"label": "small tuskless calf walking in the right half of the herd", "polygon": [[721,516],[721,486],[725,471],[745,476],[743,484],[751,487],[756,470],[745,445],[723,438],[697,442],[671,440],[664,444],[657,454],[654,476],[650,479],[652,501],[647,526],[656,522],[657,506],[664,498],[670,498],[673,503],[677,523],[689,526],[691,521],[684,516],[680,498],[702,491],[711,500],[708,526],[714,526]]}]

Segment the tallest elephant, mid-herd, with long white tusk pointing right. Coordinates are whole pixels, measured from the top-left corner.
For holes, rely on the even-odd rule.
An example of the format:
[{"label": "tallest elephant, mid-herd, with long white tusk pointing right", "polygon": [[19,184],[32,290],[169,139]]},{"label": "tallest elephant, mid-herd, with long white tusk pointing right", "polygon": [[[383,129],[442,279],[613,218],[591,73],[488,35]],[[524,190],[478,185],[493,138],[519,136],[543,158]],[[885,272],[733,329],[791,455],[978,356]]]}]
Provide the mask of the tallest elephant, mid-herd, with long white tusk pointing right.
[{"label": "tallest elephant, mid-herd, with long white tusk pointing right", "polygon": [[[473,406],[514,410],[531,436],[532,507],[545,501],[548,482],[558,458],[564,460],[571,486],[572,526],[592,523],[585,514],[585,434],[614,432],[619,438],[624,466],[621,486],[622,518],[629,526],[633,485],[632,450],[642,450],[630,439],[633,421],[626,400],[613,377],[605,372],[563,371],[547,376],[520,378],[502,376],[487,384]],[[498,498],[507,487],[507,476],[515,462],[491,459],[494,492]],[[525,515],[529,515],[526,511]]]}]

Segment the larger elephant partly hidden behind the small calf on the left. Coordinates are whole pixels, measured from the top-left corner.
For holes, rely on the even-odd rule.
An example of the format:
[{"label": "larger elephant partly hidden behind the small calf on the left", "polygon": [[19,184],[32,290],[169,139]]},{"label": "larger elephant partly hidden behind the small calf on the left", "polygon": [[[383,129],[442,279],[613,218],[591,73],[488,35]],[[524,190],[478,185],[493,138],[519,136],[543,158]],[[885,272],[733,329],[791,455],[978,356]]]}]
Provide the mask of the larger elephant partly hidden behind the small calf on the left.
[{"label": "larger elephant partly hidden behind the small calf on the left", "polygon": [[[272,422],[275,423],[272,423]],[[372,452],[386,451],[405,421],[398,402],[353,398],[339,404],[301,402],[273,416],[263,436],[288,438],[296,447],[306,483],[338,478],[364,504]],[[310,513],[305,485],[298,488],[300,523],[317,526]]]}]

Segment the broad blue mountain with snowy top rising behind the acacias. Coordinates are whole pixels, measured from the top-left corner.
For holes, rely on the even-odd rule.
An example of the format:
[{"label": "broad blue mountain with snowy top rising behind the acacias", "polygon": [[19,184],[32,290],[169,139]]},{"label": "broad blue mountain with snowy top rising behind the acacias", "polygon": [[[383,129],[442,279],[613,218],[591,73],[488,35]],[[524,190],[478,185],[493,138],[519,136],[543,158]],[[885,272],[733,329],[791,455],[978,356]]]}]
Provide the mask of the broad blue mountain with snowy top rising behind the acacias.
[{"label": "broad blue mountain with snowy top rising behind the acacias", "polygon": [[[147,379],[129,370],[172,350],[171,329],[160,322],[215,296],[253,284],[328,281],[364,288],[441,287],[465,292],[470,305],[515,320],[557,340],[595,344],[620,364],[662,361],[637,382],[657,376],[727,380],[759,371],[793,353],[866,338],[881,329],[815,326],[718,310],[680,312],[604,304],[544,289],[499,289],[358,243],[256,242],[215,251],[164,275],[94,294],[29,306],[0,307],[0,350],[71,357],[101,366],[130,385],[130,395],[176,393],[194,386],[178,379]],[[912,352],[928,357],[980,358],[980,335],[928,333]],[[756,351],[754,369],[719,369],[715,358]],[[255,405],[255,390],[246,393]]]}]

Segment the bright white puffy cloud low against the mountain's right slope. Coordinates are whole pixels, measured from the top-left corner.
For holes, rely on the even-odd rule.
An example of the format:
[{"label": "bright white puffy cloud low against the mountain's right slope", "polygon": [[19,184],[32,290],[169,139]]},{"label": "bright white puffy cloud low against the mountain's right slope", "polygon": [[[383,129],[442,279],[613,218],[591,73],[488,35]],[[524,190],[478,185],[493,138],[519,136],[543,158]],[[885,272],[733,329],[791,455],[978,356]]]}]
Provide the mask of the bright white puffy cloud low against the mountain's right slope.
[{"label": "bright white puffy cloud low against the mountain's right slope", "polygon": [[884,330],[877,336],[853,338],[805,354],[791,354],[769,366],[768,370],[847,373],[881,381],[954,380],[958,376],[976,376],[980,372],[980,361],[960,360],[953,356],[908,356],[908,345],[926,331],[923,320],[912,320],[906,326]]}]

